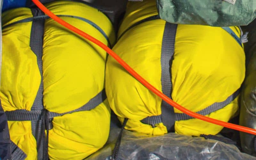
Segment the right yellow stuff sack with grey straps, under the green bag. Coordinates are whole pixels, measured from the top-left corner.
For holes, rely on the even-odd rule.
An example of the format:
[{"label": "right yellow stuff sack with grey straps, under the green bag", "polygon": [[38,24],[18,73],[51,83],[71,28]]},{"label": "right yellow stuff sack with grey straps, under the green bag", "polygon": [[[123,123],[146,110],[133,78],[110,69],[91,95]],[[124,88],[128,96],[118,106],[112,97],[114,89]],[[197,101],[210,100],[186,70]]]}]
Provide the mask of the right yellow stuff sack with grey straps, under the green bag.
[{"label": "right yellow stuff sack with grey straps, under the green bag", "polygon": [[[176,25],[159,19],[155,0],[129,2],[113,50],[156,89],[183,107],[227,122],[238,110],[245,55],[239,27]],[[110,108],[126,129],[149,135],[217,134],[222,126],[162,101],[112,57],[106,65]]]}]

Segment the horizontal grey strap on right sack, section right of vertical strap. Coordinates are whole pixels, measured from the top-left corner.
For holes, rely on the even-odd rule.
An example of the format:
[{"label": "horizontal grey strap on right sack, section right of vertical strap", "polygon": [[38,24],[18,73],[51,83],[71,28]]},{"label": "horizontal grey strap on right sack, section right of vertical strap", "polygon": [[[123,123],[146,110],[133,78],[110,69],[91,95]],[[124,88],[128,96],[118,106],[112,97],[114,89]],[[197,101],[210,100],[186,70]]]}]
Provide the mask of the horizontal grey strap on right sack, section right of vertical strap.
[{"label": "horizontal grey strap on right sack, section right of vertical strap", "polygon": [[[235,100],[235,98],[238,96],[239,94],[239,89],[233,93],[231,96],[229,96],[226,100],[224,100],[223,102],[216,102],[213,103],[211,106],[208,106],[207,108],[204,108],[196,113],[200,114],[200,115],[209,115],[212,112],[215,112],[225,106],[227,106],[229,103],[231,103],[233,100]],[[175,120],[176,121],[180,121],[180,120],[188,120],[188,119],[192,119],[193,117],[186,115],[185,113],[175,113]]]}]

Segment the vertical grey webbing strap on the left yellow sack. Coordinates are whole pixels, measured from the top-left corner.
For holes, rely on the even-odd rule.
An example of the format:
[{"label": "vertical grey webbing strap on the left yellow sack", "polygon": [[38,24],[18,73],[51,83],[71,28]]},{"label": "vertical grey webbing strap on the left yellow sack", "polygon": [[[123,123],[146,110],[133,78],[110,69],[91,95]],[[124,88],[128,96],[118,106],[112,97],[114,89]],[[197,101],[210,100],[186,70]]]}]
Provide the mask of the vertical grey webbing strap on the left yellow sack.
[{"label": "vertical grey webbing strap on the left yellow sack", "polygon": [[[32,8],[31,12],[33,16],[42,16],[44,12],[39,8]],[[37,91],[36,99],[31,108],[31,111],[38,112],[41,114],[44,109],[43,105],[43,64],[42,64],[42,56],[43,56],[43,39],[44,38],[44,20],[33,20],[30,32],[30,48],[36,54],[37,57],[37,65],[41,75],[41,83],[39,89]],[[44,131],[42,129],[42,120],[31,121],[32,134],[36,139],[36,147],[37,147],[37,159],[43,159],[43,142],[44,142]]]}]

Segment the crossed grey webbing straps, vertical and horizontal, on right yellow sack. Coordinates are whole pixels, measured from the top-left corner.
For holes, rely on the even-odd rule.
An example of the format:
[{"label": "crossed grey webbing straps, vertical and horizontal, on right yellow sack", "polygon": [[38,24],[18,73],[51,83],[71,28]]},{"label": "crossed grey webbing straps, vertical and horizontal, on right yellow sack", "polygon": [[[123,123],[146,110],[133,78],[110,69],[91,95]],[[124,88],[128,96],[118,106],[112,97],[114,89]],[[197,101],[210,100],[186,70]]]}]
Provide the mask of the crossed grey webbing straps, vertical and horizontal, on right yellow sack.
[{"label": "crossed grey webbing straps, vertical and horizontal, on right yellow sack", "polygon": [[[176,26],[176,27],[175,27]],[[171,67],[172,66],[172,57],[174,53],[174,42],[176,34],[177,25],[167,23],[164,28],[164,36],[162,42],[162,51],[161,51],[161,66],[162,66],[162,92],[171,98],[172,93],[172,79],[171,79]],[[221,108],[224,108],[229,103],[231,103],[239,94],[239,89],[230,95],[223,102],[216,102],[207,108],[204,108],[196,113],[201,115],[209,115],[212,112],[215,112]],[[174,113],[173,107],[167,104],[162,100],[161,104],[162,114],[159,116],[150,116],[141,120],[144,124],[150,124],[155,127],[155,124],[163,123],[168,131],[174,131],[175,121],[188,120],[193,117],[186,115],[185,113]]]}]

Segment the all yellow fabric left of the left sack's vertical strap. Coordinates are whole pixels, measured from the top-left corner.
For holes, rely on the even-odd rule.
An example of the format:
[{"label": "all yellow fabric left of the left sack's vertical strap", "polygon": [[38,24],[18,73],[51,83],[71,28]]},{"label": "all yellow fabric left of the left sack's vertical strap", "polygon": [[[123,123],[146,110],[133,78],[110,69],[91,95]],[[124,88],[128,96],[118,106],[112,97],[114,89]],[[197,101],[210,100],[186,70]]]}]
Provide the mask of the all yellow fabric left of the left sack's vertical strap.
[{"label": "all yellow fabric left of the left sack's vertical strap", "polygon": [[[9,21],[31,17],[27,8],[3,13],[3,26]],[[12,13],[12,12],[11,12]],[[21,18],[16,17],[22,13]],[[16,14],[16,15],[15,15]],[[20,23],[3,29],[2,80],[0,98],[4,111],[31,109],[40,84],[40,72],[36,55],[29,47],[32,22]],[[36,159],[36,140],[32,135],[30,121],[8,121],[11,140],[28,155]]]}]

